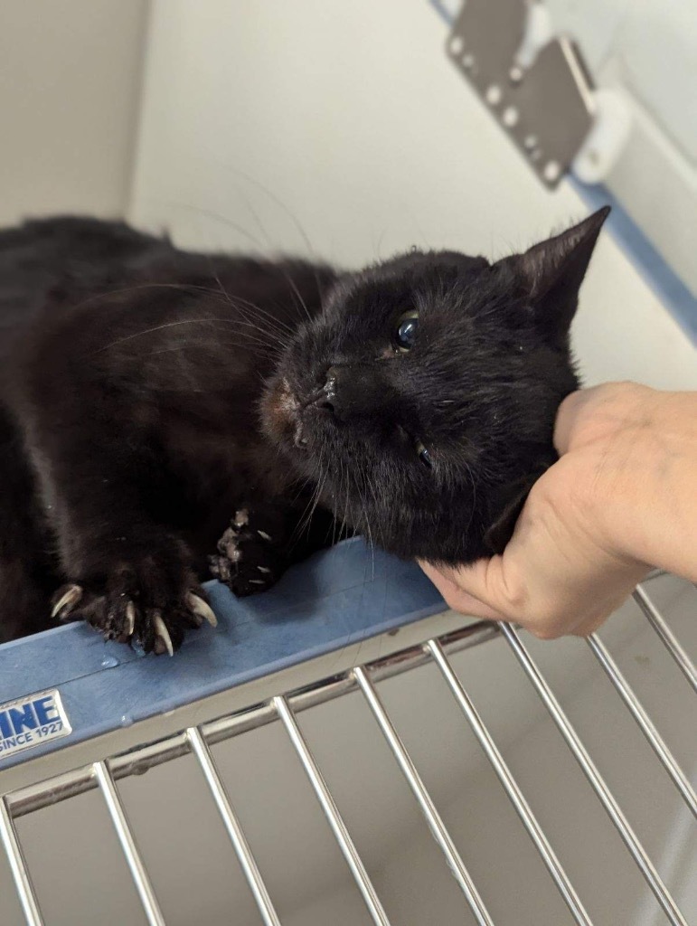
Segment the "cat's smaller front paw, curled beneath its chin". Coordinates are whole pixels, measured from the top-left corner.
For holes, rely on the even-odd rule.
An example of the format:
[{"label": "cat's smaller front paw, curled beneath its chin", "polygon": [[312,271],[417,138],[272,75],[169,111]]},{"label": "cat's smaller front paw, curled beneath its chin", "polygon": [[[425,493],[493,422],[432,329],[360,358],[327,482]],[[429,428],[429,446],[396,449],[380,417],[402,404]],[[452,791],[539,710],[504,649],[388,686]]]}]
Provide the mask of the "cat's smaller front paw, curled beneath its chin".
[{"label": "cat's smaller front paw, curled beneath its chin", "polygon": [[218,553],[208,557],[211,575],[238,597],[265,592],[285,569],[280,552],[284,540],[280,518],[268,510],[241,508],[218,541]]}]

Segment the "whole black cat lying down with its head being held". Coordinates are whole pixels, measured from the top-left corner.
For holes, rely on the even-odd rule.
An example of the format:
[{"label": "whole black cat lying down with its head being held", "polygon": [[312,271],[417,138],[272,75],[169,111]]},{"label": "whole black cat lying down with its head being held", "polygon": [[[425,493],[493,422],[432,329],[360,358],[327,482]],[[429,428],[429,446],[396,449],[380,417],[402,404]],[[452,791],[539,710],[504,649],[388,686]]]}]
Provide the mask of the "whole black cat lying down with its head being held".
[{"label": "whole black cat lying down with its head being held", "polygon": [[55,593],[56,618],[163,652],[208,569],[263,591],[337,521],[402,557],[502,549],[578,385],[605,215],[492,265],[356,274],[92,219],[0,232],[0,640],[48,626]]}]

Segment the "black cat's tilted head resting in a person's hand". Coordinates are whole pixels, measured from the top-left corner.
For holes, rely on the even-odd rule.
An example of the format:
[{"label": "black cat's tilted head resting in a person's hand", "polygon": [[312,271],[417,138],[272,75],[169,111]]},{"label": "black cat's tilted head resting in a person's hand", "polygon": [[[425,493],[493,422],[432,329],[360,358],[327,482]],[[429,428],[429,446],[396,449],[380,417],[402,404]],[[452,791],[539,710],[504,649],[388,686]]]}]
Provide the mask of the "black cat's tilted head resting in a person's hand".
[{"label": "black cat's tilted head resting in a person's hand", "polygon": [[324,505],[405,557],[503,548],[578,386],[569,326],[608,211],[493,264],[413,250],[341,278],[262,403]]}]

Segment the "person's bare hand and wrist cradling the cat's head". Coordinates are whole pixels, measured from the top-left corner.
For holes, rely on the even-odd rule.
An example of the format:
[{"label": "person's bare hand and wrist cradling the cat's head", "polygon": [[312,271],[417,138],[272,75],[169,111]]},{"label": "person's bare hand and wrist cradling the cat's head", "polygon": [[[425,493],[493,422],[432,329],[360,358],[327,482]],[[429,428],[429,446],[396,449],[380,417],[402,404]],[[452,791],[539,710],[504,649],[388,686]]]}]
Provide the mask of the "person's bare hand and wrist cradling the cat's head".
[{"label": "person's bare hand and wrist cradling the cat's head", "polygon": [[654,566],[697,582],[697,393],[580,390],[554,444],[503,555],[420,564],[449,607],[546,640],[596,631]]}]

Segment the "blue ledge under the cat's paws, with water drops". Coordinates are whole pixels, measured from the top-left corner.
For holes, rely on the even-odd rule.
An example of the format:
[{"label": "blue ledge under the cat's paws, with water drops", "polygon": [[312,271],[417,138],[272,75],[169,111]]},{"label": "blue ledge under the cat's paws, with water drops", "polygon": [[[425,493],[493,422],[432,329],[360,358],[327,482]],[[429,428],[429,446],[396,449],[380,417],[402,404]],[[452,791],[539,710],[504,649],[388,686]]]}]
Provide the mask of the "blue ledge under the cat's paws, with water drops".
[{"label": "blue ledge under the cat's paws, with water drops", "polygon": [[0,770],[157,716],[444,607],[413,563],[355,538],[291,569],[270,592],[238,599],[206,589],[218,616],[173,658],[142,656],[68,624],[0,646],[0,705],[57,689],[72,732],[3,757]]}]

